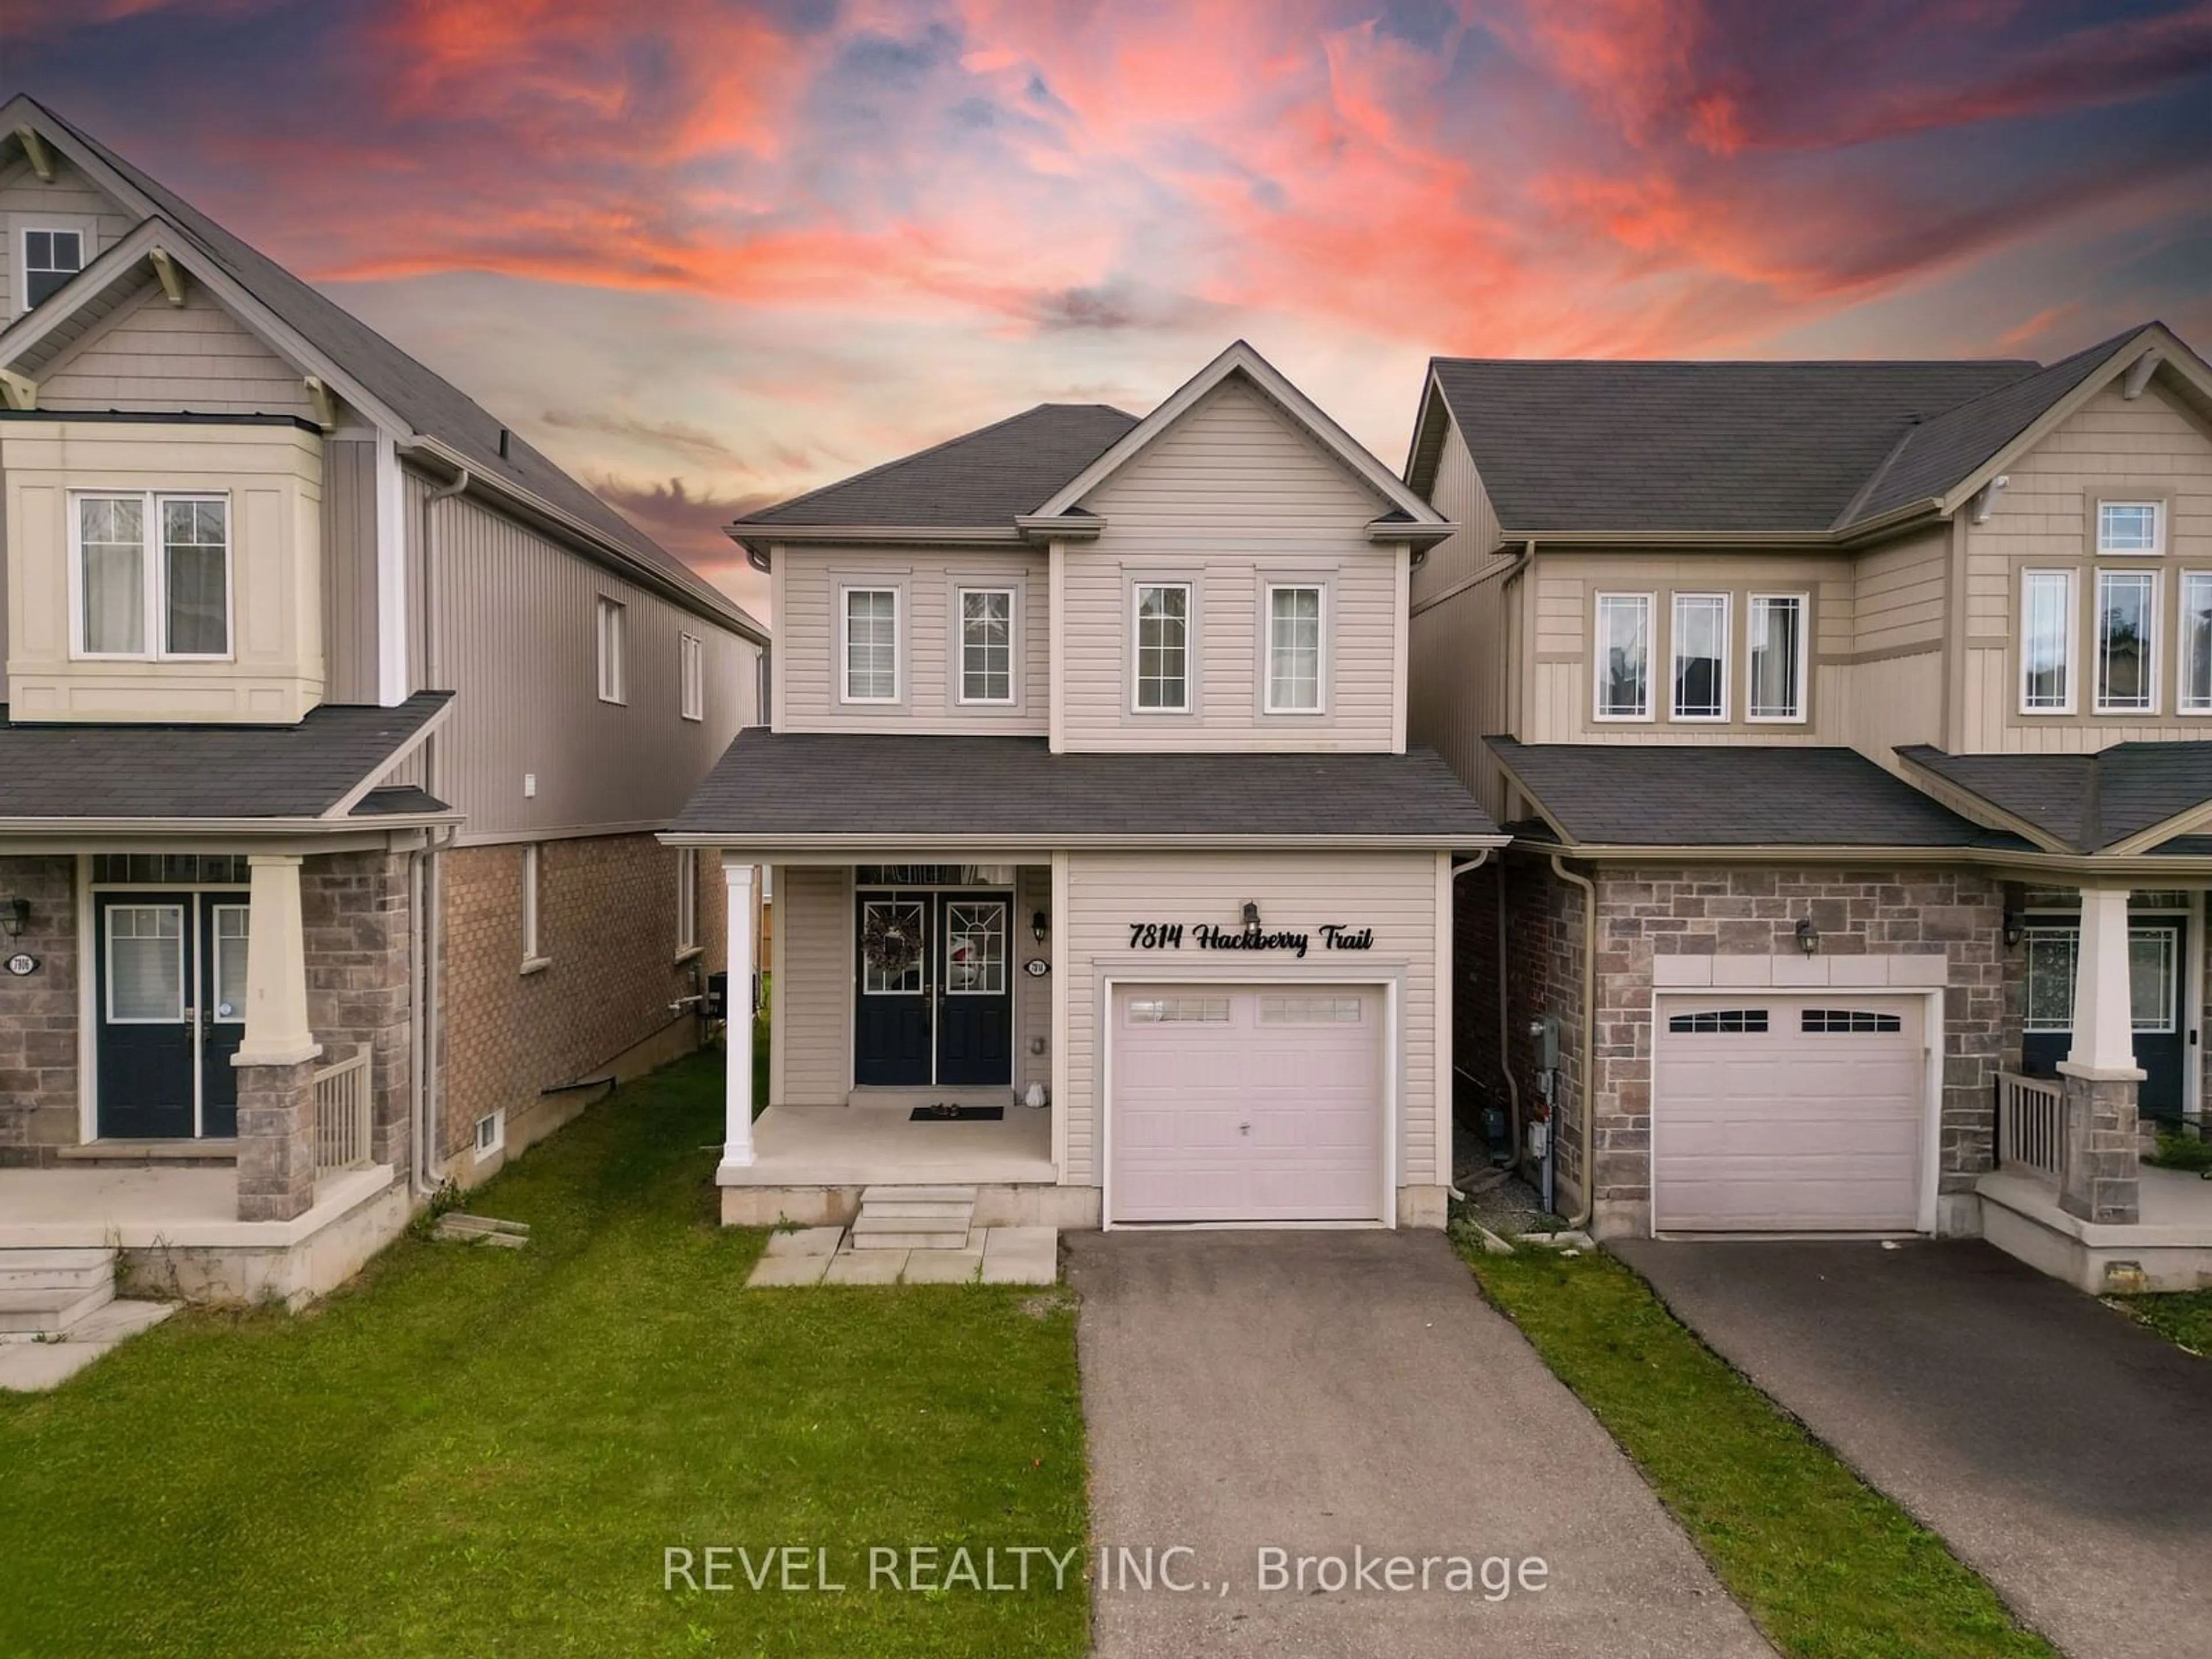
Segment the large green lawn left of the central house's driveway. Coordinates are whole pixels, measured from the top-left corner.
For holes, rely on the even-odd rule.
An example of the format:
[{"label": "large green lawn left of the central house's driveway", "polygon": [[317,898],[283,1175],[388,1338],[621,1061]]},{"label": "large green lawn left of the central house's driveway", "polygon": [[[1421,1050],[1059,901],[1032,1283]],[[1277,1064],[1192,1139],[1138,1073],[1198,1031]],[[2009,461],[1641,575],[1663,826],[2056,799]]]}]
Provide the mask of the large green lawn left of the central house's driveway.
[{"label": "large green lawn left of the central house's driveway", "polygon": [[[303,1316],[179,1314],[0,1396],[0,1655],[1082,1652],[1079,1562],[865,1588],[869,1546],[1084,1544],[1073,1310],[745,1292],[719,1139],[719,1057],[672,1066],[469,1199],[529,1250],[405,1239]],[[852,1588],[666,1593],[708,1544]]]}]

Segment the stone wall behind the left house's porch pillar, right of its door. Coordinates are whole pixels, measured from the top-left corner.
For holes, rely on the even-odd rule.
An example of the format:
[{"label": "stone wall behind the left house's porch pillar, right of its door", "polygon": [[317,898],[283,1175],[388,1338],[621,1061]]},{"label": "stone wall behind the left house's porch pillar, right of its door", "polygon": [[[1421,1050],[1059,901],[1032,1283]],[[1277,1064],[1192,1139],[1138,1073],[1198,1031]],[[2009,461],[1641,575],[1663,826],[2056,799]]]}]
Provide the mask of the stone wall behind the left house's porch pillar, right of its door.
[{"label": "stone wall behind the left house's porch pillar, right of its door", "polygon": [[409,1170],[414,1026],[409,971],[414,911],[407,854],[345,852],[307,858],[299,878],[307,940],[307,1026],[332,1064],[369,1051],[369,1157]]}]

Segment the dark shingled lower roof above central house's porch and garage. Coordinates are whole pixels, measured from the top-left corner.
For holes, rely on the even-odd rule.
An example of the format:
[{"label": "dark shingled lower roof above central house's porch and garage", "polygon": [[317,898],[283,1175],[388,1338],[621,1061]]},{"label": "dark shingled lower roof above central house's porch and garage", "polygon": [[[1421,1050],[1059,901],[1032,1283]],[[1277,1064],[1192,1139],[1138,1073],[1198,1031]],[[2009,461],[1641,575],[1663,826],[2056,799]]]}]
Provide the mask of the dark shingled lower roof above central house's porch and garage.
[{"label": "dark shingled lower roof above central house's porch and garage", "polygon": [[1498,825],[1429,750],[1053,754],[1042,737],[770,732],[754,726],[670,825],[679,836],[1407,836]]}]

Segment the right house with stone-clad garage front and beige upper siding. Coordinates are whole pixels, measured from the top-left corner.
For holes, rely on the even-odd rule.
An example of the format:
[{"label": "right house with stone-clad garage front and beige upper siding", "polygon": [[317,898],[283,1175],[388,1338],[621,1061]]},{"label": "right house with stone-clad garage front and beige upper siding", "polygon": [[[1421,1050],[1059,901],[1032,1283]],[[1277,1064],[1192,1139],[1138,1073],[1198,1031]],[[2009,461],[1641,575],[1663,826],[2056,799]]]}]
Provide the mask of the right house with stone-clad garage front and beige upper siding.
[{"label": "right house with stone-clad garage front and beige upper siding", "polygon": [[2212,1188],[2137,1166],[2203,1113],[2194,352],[1438,358],[1407,480],[1462,526],[1413,734],[1515,836],[1460,896],[1513,962],[1462,1077],[1531,1110],[1557,1022],[1566,1208],[2212,1265]]}]

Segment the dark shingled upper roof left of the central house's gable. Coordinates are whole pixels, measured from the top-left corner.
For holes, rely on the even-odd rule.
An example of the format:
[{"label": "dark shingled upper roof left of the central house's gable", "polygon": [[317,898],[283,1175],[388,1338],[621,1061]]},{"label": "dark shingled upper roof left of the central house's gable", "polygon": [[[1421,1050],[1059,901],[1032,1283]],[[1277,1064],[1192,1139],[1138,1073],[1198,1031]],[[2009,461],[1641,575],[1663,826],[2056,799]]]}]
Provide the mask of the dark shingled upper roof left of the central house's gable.
[{"label": "dark shingled upper roof left of the central house's gable", "polygon": [[900,529],[1013,526],[1104,456],[1137,416],[1104,403],[1040,403],[933,449],[887,460],[838,484],[739,520],[739,533],[776,524],[876,524]]}]

